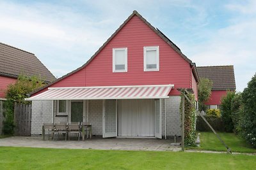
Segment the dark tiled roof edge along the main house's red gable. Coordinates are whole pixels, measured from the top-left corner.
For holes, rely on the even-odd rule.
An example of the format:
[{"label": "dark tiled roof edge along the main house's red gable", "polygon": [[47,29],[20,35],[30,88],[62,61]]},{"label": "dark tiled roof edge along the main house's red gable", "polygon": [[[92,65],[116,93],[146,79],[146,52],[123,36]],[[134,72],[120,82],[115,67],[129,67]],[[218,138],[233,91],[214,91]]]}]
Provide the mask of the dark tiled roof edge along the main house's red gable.
[{"label": "dark tiled roof edge along the main house's red gable", "polygon": [[[100,52],[101,50],[109,43],[109,41],[111,41],[111,39],[113,39],[115,37],[115,35],[124,27],[125,24],[127,24],[127,22],[129,22],[129,20],[131,20],[132,17],[134,16],[137,16],[139,17],[145,24],[148,25],[148,27],[150,27],[150,29],[152,29],[152,31],[156,32],[156,34],[163,39],[163,41],[165,41],[168,45],[170,45],[173,50],[175,50],[175,52],[179,53],[179,55],[184,59],[186,60],[189,64],[191,64],[191,67],[193,67],[193,64],[192,64],[192,61],[188,59],[188,57],[186,57],[186,55],[184,55],[180,48],[175,45],[169,38],[167,38],[167,36],[165,36],[163,34],[163,32],[159,31],[159,29],[156,29],[155,27],[153,27],[145,18],[143,18],[140,13],[138,13],[138,11],[134,10],[132,12],[132,14],[124,21],[124,23],[122,25],[120,25],[120,27],[118,29],[116,29],[116,31],[108,38],[108,40],[102,45],[100,46],[99,50],[97,50],[97,52],[95,52],[93,54],[93,56],[81,67],[77,68],[76,70],[68,73],[68,74],[65,74],[64,76],[62,76],[61,78],[58,78],[56,81],[53,81],[52,83],[49,83],[48,85],[46,85],[45,87],[42,87],[40,89],[37,89],[35,90],[34,92],[31,92],[31,94],[35,94],[36,92],[39,92],[40,90],[42,89],[45,89],[46,87],[49,87],[51,86],[52,84],[60,81],[60,80],[63,80],[64,78],[66,78],[67,76],[70,76],[71,74],[74,74],[76,73],[77,71],[80,71],[81,69],[83,69],[84,67],[86,67],[93,59],[94,57],[96,57]],[[193,68],[195,69],[195,67]],[[196,73],[196,72],[195,72]],[[197,77],[197,75],[195,75]]]}]

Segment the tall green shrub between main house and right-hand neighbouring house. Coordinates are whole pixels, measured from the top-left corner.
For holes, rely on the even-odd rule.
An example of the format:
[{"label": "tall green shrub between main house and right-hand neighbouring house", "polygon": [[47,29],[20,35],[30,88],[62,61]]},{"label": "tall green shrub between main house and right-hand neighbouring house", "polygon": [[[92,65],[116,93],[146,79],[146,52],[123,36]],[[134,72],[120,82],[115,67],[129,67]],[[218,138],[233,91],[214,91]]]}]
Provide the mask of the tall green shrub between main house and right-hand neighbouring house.
[{"label": "tall green shrub between main house and right-hand neighbouring house", "polygon": [[199,111],[206,110],[205,102],[209,100],[212,90],[212,81],[208,78],[200,78],[198,86],[198,105]]}]

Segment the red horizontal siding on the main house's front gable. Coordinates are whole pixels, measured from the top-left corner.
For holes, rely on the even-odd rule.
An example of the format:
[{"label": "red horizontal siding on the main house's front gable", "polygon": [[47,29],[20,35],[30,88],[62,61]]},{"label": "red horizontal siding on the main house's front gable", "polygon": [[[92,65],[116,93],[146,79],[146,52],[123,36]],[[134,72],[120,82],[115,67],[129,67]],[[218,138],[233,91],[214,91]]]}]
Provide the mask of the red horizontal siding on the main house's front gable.
[{"label": "red horizontal siding on the main house's front gable", "polygon": [[[159,46],[160,71],[143,71],[143,46]],[[113,48],[122,47],[128,48],[128,71],[113,73]],[[135,15],[84,69],[51,87],[161,84],[191,88],[190,64]]]}]

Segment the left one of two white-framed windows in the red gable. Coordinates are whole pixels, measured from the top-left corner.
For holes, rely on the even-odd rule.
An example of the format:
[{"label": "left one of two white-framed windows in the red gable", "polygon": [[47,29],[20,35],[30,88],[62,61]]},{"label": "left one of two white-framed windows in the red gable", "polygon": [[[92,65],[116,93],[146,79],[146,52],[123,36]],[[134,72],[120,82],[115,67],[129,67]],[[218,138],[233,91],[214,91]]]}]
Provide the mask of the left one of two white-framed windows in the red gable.
[{"label": "left one of two white-framed windows in the red gable", "polygon": [[113,48],[113,72],[127,72],[127,48]]}]

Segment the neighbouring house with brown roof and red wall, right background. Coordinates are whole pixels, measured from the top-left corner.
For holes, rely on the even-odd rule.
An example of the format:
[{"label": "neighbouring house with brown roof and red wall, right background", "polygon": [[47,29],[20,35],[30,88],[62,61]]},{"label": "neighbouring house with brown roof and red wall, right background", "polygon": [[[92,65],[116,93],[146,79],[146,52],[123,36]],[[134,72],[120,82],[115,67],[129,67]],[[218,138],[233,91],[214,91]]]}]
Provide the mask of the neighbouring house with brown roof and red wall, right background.
[{"label": "neighbouring house with brown roof and red wall, right background", "polygon": [[207,108],[219,108],[221,97],[226,96],[228,90],[236,90],[234,66],[203,66],[196,68],[200,78],[208,78],[213,82],[211,97],[205,103]]}]

